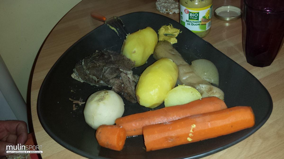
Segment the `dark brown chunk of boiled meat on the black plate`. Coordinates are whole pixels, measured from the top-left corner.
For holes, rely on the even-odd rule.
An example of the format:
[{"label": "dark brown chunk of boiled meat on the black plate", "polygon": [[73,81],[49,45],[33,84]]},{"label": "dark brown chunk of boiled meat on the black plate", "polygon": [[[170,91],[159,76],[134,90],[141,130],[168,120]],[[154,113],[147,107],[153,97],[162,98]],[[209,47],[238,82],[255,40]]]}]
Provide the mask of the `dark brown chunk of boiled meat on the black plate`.
[{"label": "dark brown chunk of boiled meat on the black plate", "polygon": [[135,85],[139,76],[133,75],[134,63],[114,51],[102,50],[76,63],[72,78],[90,85],[108,86],[130,102],[136,103]]}]

